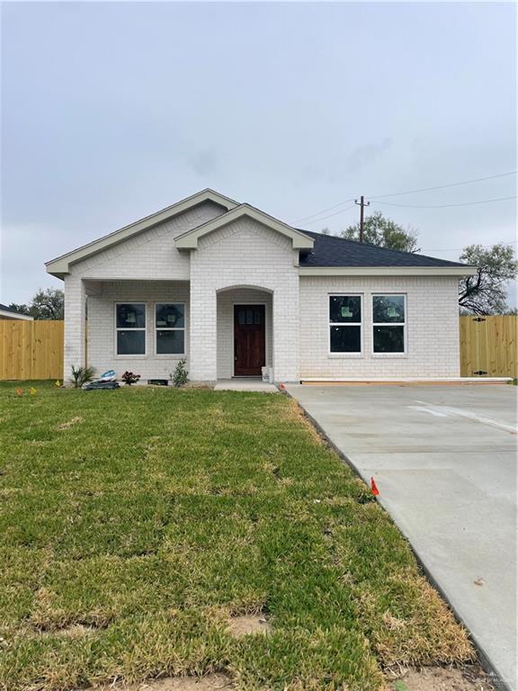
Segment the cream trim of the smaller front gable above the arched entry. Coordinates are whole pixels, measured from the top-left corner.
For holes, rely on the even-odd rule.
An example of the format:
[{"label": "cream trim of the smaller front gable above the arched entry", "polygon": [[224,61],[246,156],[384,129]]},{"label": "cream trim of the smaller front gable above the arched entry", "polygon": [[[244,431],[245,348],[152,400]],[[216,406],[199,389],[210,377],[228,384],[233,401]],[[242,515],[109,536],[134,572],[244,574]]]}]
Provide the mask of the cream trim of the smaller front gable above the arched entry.
[{"label": "cream trim of the smaller front gable above the arched entry", "polygon": [[264,213],[264,211],[255,209],[255,207],[250,204],[239,204],[239,206],[228,211],[228,213],[222,214],[215,219],[208,220],[197,228],[187,230],[187,232],[174,238],[174,244],[178,249],[196,249],[196,247],[198,247],[198,240],[204,235],[212,233],[214,230],[224,228],[228,223],[232,223],[243,217],[263,223],[264,226],[276,230],[278,233],[281,233],[281,235],[290,238],[293,249],[310,249],[313,247],[313,238],[308,237],[308,233],[292,228],[287,223],[274,219],[269,214]]}]

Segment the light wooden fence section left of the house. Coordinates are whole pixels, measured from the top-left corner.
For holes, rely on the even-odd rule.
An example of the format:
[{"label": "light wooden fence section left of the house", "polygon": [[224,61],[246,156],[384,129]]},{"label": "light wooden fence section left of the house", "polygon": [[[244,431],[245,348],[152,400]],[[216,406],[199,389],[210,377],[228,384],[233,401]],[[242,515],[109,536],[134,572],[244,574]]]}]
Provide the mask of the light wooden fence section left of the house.
[{"label": "light wooden fence section left of the house", "polygon": [[61,379],[63,324],[0,319],[0,380]]}]

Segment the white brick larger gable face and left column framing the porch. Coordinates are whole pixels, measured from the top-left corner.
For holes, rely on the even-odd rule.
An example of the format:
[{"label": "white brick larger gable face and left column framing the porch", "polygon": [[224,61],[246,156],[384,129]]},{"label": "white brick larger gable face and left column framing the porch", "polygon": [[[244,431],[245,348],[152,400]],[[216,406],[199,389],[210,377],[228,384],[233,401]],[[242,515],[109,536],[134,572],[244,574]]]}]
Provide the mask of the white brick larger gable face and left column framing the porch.
[{"label": "white brick larger gable face and left column framing the porch", "polygon": [[[81,279],[188,281],[189,253],[179,252],[174,247],[174,238],[216,218],[224,211],[218,204],[203,202],[71,266],[70,274],[65,276],[66,379],[70,376],[73,364],[85,363],[85,286]],[[94,329],[95,323],[91,319],[90,334]],[[107,354],[112,354],[112,344],[110,346]]]}]

